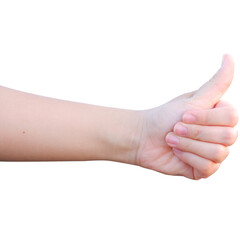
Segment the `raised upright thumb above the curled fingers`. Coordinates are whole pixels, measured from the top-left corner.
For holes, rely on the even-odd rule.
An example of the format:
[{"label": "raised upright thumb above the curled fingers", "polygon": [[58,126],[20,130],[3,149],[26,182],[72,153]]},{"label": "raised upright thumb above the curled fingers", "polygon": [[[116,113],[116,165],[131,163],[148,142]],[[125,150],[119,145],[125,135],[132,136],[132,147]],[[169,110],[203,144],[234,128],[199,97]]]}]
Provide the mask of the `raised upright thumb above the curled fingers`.
[{"label": "raised upright thumb above the curled fingers", "polygon": [[199,105],[212,108],[231,85],[234,75],[234,63],[230,55],[225,54],[222,66],[217,73],[193,95]]}]

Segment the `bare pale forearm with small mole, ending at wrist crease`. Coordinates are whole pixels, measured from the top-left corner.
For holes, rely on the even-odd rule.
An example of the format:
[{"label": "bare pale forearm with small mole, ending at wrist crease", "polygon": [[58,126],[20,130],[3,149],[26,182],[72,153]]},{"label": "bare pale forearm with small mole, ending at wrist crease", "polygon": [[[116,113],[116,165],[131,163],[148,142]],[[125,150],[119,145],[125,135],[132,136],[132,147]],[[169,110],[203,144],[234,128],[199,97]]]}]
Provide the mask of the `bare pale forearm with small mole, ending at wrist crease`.
[{"label": "bare pale forearm with small mole, ending at wrist crease", "polygon": [[0,160],[134,164],[141,112],[0,87]]}]

